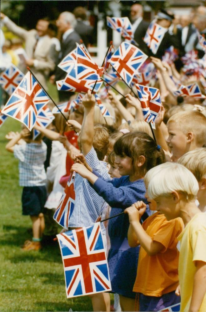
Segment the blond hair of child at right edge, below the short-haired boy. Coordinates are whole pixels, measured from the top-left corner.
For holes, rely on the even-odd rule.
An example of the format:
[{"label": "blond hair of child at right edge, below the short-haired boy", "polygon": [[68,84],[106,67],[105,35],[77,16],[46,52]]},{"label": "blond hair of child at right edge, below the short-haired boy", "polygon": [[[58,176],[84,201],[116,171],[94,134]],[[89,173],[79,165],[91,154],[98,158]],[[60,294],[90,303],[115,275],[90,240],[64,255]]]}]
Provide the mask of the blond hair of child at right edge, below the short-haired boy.
[{"label": "blond hair of child at right edge, below the short-haired boy", "polygon": [[206,148],[200,147],[184,154],[178,159],[178,163],[188,168],[198,182],[206,178]]}]

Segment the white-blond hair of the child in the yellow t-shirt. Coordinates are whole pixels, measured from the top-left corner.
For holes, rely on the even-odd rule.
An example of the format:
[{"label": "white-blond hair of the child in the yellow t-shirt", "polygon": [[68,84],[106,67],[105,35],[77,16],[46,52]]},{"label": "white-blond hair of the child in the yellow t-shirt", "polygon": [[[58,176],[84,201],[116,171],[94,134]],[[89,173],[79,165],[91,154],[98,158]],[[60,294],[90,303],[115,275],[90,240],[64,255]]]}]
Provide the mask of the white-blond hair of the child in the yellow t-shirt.
[{"label": "white-blond hair of the child in the yellow t-shirt", "polygon": [[198,193],[198,182],[194,175],[179,163],[162,163],[148,171],[148,196],[155,200],[159,196],[169,197],[176,191],[186,195],[187,200],[195,200]]}]

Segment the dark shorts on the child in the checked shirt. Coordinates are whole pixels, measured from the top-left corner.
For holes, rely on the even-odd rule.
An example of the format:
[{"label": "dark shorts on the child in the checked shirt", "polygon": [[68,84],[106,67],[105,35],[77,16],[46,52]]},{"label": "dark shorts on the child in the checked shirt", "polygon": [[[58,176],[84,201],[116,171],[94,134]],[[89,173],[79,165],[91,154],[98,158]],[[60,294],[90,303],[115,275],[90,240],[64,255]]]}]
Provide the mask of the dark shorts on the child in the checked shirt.
[{"label": "dark shorts on the child in the checked shirt", "polygon": [[22,192],[22,214],[38,216],[43,212],[47,200],[47,190],[43,186],[24,186]]}]

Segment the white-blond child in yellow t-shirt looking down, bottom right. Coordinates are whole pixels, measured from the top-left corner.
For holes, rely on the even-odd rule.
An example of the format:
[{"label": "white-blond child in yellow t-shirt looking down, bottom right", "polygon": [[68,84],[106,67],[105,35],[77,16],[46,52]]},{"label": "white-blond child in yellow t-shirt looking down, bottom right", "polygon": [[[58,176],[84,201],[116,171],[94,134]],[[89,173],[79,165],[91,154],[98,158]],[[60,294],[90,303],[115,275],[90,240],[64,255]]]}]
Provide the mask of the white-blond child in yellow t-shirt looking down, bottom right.
[{"label": "white-blond child in yellow t-shirt looking down, bottom right", "polygon": [[[195,204],[198,182],[193,174],[178,163],[165,163],[158,171],[151,169],[148,197],[167,220],[181,217],[184,230],[180,241],[179,284],[180,311],[206,311],[206,214]],[[169,179],[168,179],[169,177]]]}]

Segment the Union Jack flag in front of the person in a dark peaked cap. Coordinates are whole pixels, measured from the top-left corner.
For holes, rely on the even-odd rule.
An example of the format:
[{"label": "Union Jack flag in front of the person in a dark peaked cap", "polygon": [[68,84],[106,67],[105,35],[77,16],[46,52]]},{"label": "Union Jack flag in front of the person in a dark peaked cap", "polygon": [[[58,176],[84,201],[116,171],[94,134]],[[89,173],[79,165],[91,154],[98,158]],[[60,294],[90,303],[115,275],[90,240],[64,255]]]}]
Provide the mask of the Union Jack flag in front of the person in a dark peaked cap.
[{"label": "Union Jack flag in front of the person in a dark peaked cap", "polygon": [[150,48],[150,50],[156,54],[160,43],[164,37],[166,28],[158,25],[156,20],[152,21],[147,29],[147,32],[144,36],[144,42]]}]

